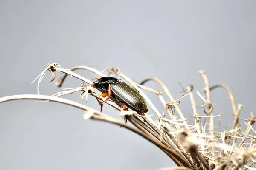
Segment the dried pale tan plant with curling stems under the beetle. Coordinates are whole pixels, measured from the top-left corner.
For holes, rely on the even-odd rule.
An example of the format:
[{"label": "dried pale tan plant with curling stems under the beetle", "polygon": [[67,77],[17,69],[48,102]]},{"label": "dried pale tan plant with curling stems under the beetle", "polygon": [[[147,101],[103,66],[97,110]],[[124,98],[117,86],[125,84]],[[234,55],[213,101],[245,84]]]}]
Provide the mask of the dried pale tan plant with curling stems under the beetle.
[{"label": "dried pale tan plant with curling stems under the beetle", "polygon": [[[96,111],[86,105],[81,105],[77,102],[60,98],[63,95],[73,94],[74,92],[81,91],[81,98],[84,100],[88,99],[88,95],[92,95],[102,102],[105,101],[104,98],[93,91],[94,89],[90,85],[92,84],[90,80],[73,72],[76,69],[92,71],[100,77],[108,77],[110,74],[116,74],[118,77],[126,80],[145,98],[148,105],[152,108],[154,113],[157,114],[157,119],[151,119],[151,115],[146,113],[145,116],[142,116],[131,111],[125,111],[111,101],[105,102],[106,104],[111,105],[113,108],[118,110],[120,112],[120,116],[122,118],[128,119],[128,121],[134,125],[132,126],[126,124],[125,121],[114,119],[111,116],[101,113],[100,111]],[[47,71],[50,71],[52,74],[52,80],[49,82],[52,82],[55,79],[56,72],[65,74],[63,77],[61,77],[61,79],[56,81],[56,85],[58,87],[61,87],[67,75],[76,77],[82,82],[86,82],[88,85],[84,84],[79,88],[62,89],[63,91],[52,96],[40,95],[39,84]],[[6,96],[0,98],[0,102],[16,99],[40,99],[44,100],[44,102],[54,101],[80,108],[85,111],[84,119],[95,119],[120,125],[155,144],[178,166],[164,168],[163,170],[255,169],[256,137],[254,136],[255,130],[253,130],[255,117],[252,116],[249,119],[239,118],[242,105],[236,105],[234,96],[230,89],[225,85],[209,86],[209,82],[204,71],[199,71],[199,73],[201,74],[205,84],[205,88],[202,94],[196,91],[196,93],[203,100],[203,105],[201,106],[195,104],[193,96],[194,94],[192,93],[192,85],[190,85],[188,88],[183,88],[183,91],[186,92],[186,95],[183,95],[180,97],[180,99],[175,100],[166,85],[164,85],[163,82],[157,78],[147,78],[143,80],[139,85],[122,74],[118,68],[107,68],[102,72],[87,66],[77,66],[71,69],[63,69],[57,63],[48,64],[47,68],[44,69],[44,71],[42,71],[42,73],[36,78],[38,79],[38,95]],[[34,83],[35,80],[32,83]],[[163,88],[164,93],[167,94],[168,100],[163,98],[162,91],[143,86],[148,81],[157,82]],[[219,121],[218,125],[214,124],[213,118],[222,115],[219,114],[214,116],[212,113],[213,104],[211,102],[210,91],[215,88],[224,88],[230,97],[234,115],[233,125],[230,130],[224,130],[221,127]],[[162,102],[166,112],[161,114],[141,89],[155,93]],[[183,116],[183,113],[178,106],[180,100],[185,96],[189,96],[191,100],[193,117],[195,120],[193,125],[188,124],[187,119]],[[203,111],[207,116],[199,115],[198,110],[200,110],[200,112]],[[241,129],[239,120],[240,122],[246,122],[246,130]],[[208,126],[209,128],[207,128]],[[222,131],[216,131],[214,129],[216,126],[221,127]]]}]

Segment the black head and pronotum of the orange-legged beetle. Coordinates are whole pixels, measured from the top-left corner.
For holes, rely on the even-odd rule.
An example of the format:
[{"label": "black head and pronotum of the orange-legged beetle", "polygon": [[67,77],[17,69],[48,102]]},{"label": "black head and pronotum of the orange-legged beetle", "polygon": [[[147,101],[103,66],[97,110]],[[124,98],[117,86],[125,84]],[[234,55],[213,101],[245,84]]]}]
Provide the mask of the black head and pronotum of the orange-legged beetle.
[{"label": "black head and pronotum of the orange-legged beetle", "polygon": [[104,93],[108,92],[109,85],[119,82],[119,80],[120,79],[117,79],[115,77],[101,77],[93,82],[93,84],[95,88]]}]

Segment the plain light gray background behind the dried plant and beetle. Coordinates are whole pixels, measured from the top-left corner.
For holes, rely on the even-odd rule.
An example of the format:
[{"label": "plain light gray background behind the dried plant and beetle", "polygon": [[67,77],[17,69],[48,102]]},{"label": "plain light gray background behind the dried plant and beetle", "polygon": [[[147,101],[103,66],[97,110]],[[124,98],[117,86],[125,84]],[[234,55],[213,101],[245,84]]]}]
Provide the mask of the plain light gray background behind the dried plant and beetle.
[{"label": "plain light gray background behind the dried plant and beetle", "polygon": [[[201,91],[204,83],[198,71],[205,70],[210,85],[224,83],[233,90],[237,104],[244,105],[241,117],[247,118],[256,109],[255,8],[254,0],[0,0],[0,96],[36,94],[36,85],[30,83],[49,62],[63,68],[117,66],[136,82],[158,77],[175,99],[181,96],[178,82]],[[88,71],[76,73],[96,77]],[[41,94],[61,91],[50,79],[47,74]],[[68,77],[63,88],[81,85]],[[160,89],[154,82],[147,86]],[[157,96],[146,94],[163,113]],[[86,104],[79,93],[65,98]],[[181,102],[180,108],[193,123],[189,98]],[[202,103],[197,96],[196,102]],[[222,119],[228,127],[233,116],[227,93],[215,90],[212,102],[215,115],[224,113],[215,122]],[[93,97],[86,105],[99,110]],[[103,109],[121,119],[113,108]],[[174,166],[140,136],[116,125],[85,121],[82,115],[81,110],[56,103],[0,104],[0,169]]]}]

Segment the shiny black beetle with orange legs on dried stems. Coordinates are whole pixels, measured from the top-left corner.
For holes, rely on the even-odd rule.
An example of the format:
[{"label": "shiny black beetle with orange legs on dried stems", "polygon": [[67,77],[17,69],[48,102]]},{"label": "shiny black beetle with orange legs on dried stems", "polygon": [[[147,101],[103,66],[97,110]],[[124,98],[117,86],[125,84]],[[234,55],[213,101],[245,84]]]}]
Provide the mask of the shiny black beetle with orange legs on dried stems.
[{"label": "shiny black beetle with orange legs on dried stems", "polygon": [[[122,106],[125,110],[130,108],[137,113],[147,113],[148,106],[143,96],[127,83],[115,77],[101,77],[93,82],[93,87],[102,92],[102,97],[107,97],[105,102],[111,99],[117,105]],[[97,99],[97,98],[96,98]],[[102,112],[102,102],[99,101]]]}]

